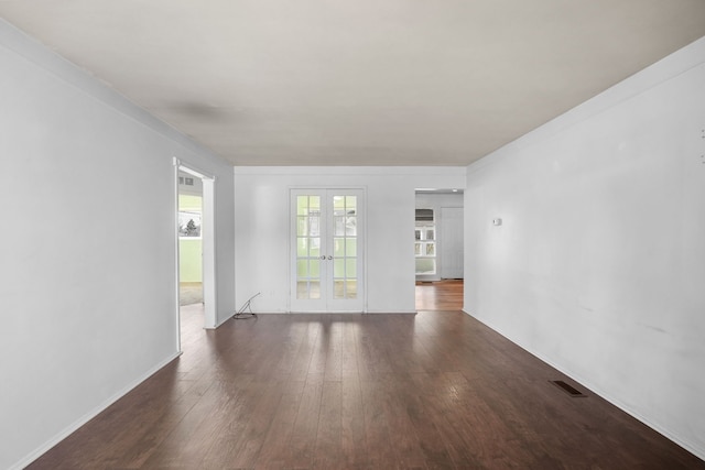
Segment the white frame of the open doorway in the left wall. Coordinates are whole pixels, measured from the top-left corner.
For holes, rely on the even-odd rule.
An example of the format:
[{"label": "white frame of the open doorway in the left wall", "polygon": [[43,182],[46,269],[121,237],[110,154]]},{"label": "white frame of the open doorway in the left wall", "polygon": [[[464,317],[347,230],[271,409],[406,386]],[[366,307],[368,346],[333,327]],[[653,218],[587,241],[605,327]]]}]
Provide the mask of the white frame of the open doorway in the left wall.
[{"label": "white frame of the open doorway in the left wall", "polygon": [[215,184],[216,177],[203,172],[189,163],[182,162],[174,157],[174,236],[176,239],[176,341],[177,350],[181,351],[181,306],[180,294],[180,250],[178,250],[178,172],[187,173],[203,182],[203,218],[202,218],[202,243],[203,243],[203,300],[204,300],[204,328],[216,328],[217,295],[216,295],[216,233],[215,233]]}]

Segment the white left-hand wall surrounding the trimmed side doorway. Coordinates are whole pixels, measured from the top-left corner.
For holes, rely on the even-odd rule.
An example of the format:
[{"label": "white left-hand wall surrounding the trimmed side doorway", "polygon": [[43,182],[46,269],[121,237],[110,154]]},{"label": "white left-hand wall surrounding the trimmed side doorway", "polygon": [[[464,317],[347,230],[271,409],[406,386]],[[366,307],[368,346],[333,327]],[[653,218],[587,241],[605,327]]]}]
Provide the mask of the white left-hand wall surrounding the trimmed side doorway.
[{"label": "white left-hand wall surrounding the trimmed side doorway", "polygon": [[174,156],[218,178],[221,318],[235,272],[231,166],[2,21],[0,69],[4,469],[176,356]]}]

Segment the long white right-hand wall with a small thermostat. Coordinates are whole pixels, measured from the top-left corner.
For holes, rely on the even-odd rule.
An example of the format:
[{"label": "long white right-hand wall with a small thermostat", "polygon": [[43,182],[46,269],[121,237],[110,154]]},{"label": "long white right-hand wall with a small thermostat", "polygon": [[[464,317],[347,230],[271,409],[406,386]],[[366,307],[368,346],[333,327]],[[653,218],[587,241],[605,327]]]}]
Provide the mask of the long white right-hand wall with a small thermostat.
[{"label": "long white right-hand wall with a small thermostat", "polygon": [[465,199],[467,311],[701,458],[704,63],[705,39],[500,149]]}]

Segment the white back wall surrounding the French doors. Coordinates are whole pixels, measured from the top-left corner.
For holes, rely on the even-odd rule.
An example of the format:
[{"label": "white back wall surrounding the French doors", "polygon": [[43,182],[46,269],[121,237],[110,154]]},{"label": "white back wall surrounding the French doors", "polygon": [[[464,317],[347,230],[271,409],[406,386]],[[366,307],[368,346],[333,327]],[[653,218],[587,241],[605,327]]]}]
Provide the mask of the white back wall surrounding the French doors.
[{"label": "white back wall surrounding the French doors", "polygon": [[292,187],[367,188],[367,311],[415,311],[416,187],[463,187],[460,167],[236,167],[236,304],[289,310]]}]

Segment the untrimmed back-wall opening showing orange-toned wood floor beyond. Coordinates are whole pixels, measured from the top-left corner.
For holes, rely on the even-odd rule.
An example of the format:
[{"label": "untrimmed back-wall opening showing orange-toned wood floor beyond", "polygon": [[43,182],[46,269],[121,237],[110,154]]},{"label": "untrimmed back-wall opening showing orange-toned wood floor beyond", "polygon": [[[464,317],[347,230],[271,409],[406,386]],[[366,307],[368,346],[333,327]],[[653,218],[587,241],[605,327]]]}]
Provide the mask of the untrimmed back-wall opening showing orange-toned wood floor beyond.
[{"label": "untrimmed back-wall opening showing orange-toned wood floor beyond", "polygon": [[463,189],[416,189],[416,310],[463,308]]}]

